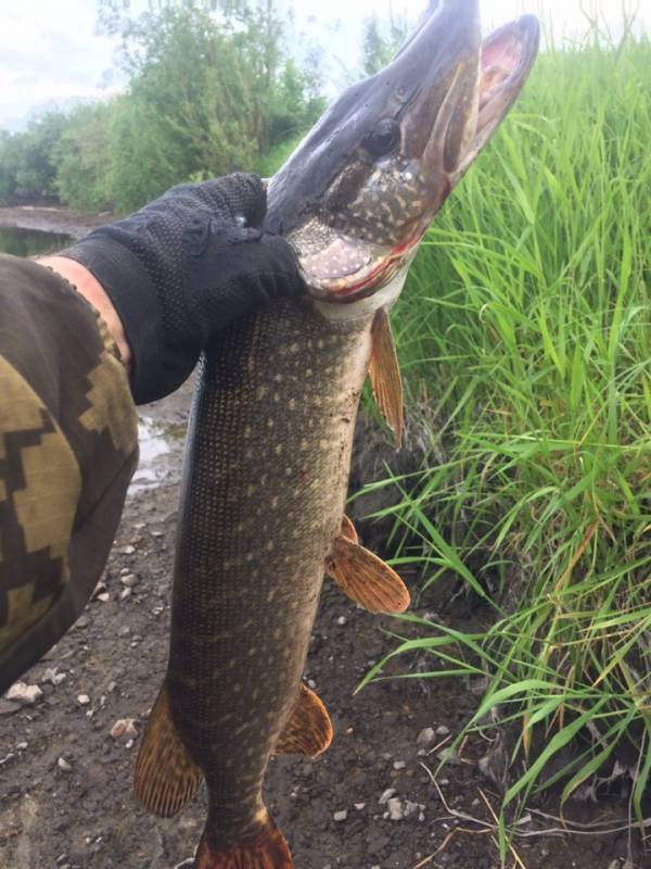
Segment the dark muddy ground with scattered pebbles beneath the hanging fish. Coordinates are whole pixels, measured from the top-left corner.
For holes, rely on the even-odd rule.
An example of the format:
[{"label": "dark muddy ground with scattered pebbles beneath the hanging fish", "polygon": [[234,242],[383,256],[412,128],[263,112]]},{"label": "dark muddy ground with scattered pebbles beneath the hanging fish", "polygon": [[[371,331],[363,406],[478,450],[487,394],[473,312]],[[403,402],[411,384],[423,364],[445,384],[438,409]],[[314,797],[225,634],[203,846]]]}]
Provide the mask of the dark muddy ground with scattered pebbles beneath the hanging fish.
[{"label": "dark muddy ground with scattered pebbles beneath the hanging fish", "polygon": [[[42,696],[31,706],[0,700],[2,869],[173,869],[197,843],[205,793],[165,821],[144,813],[131,792],[139,739],[165,669],[189,395],[187,387],[142,408],[142,465],[103,584],[69,633],[25,676]],[[418,600],[417,612],[426,613],[429,603]],[[383,629],[396,628],[326,587],[306,679],[330,709],[336,736],[315,761],[272,761],[268,805],[297,869],[497,869],[485,802],[496,806],[497,796],[477,768],[486,743],[468,744],[437,785],[431,779],[482,687],[412,679],[353,693],[394,645]],[[112,735],[127,718],[136,732]],[[556,814],[552,802],[537,808]],[[626,803],[573,806],[567,815],[615,827],[625,823]],[[554,832],[539,832],[546,829]],[[532,815],[522,832],[521,862],[511,855],[508,866],[651,866],[637,835],[629,842],[624,830],[569,836],[553,819]]]}]

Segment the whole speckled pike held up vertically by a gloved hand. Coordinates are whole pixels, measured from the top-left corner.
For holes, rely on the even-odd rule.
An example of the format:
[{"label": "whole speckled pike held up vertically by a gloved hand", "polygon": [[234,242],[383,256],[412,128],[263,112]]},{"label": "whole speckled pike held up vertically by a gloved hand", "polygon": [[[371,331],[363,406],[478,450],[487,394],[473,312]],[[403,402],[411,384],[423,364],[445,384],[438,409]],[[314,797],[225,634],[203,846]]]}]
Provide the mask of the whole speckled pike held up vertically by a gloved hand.
[{"label": "whole speckled pike held up vertically by a gloved hand", "polygon": [[221,332],[200,362],[181,482],[167,672],[135,790],[174,817],[205,780],[194,869],[291,869],[263,801],[272,756],[333,728],[303,672],[324,575],[372,613],[409,593],[345,516],[367,376],[397,440],[390,313],[425,230],[518,97],[524,16],[482,42],[477,0],[439,0],[394,60],[346,90],[270,179],[264,226],[307,292]]}]

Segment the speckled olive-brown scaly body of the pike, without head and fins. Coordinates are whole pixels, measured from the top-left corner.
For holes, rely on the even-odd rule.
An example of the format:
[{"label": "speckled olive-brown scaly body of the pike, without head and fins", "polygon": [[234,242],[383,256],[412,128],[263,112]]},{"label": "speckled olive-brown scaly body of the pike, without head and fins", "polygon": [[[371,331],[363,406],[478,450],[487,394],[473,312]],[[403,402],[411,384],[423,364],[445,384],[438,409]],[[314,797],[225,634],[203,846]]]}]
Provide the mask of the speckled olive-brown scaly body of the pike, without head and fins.
[{"label": "speckled olive-brown scaly body of the pike, without head and fins", "polygon": [[202,362],[168,690],[207,780],[216,848],[254,837],[264,818],[265,768],[296,698],[344,513],[371,324],[281,302],[235,324]]}]

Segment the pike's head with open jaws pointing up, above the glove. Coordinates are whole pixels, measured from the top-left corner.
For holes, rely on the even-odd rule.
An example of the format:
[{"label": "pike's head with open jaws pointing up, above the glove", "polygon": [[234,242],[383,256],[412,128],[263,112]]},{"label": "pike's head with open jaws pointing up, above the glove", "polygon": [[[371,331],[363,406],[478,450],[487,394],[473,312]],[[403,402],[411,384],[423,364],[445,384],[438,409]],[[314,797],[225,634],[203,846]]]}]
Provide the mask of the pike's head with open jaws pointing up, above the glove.
[{"label": "pike's head with open jaws pointing up, above the glove", "polygon": [[268,188],[266,226],[294,245],[312,297],[350,303],[401,289],[538,41],[527,15],[482,42],[478,0],[433,0],[393,61],[327,110]]}]

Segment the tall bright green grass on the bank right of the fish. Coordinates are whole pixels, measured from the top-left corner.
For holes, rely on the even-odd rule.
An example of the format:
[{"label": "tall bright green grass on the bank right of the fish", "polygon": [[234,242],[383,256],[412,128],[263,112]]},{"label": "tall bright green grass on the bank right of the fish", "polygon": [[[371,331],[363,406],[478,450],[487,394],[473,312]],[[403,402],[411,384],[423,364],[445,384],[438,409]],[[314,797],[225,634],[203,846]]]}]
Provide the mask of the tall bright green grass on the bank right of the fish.
[{"label": "tall bright green grass on the bank right of the fish", "polygon": [[[529,765],[502,811],[559,779],[545,781],[545,764],[580,731],[590,745],[564,770],[563,801],[630,740],[641,818],[650,269],[651,42],[545,52],[438,216],[394,315],[409,391],[436,408],[432,445],[445,456],[416,488],[403,482],[396,534],[408,528],[422,546],[401,557],[424,567],[425,584],[454,571],[481,594],[487,577],[498,587],[485,632],[422,622],[416,642],[433,676],[488,676],[470,729],[495,707],[516,723]],[[529,754],[534,731],[542,754]]]}]

